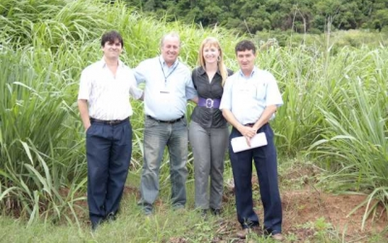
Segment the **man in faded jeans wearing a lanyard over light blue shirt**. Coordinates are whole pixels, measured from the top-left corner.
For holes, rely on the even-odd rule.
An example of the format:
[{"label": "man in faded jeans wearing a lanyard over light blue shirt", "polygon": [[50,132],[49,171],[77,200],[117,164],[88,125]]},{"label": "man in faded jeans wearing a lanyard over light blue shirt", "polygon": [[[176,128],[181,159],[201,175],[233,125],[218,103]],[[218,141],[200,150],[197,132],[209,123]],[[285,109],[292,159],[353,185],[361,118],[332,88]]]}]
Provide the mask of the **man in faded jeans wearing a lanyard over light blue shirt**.
[{"label": "man in faded jeans wearing a lanyard over light blue shirt", "polygon": [[162,55],[141,62],[135,69],[138,84],[144,89],[144,164],[140,182],[139,205],[146,215],[153,211],[159,194],[159,170],[167,145],[170,157],[171,203],[186,204],[188,132],[185,118],[188,99],[197,101],[190,69],[178,61],[179,35],[164,35]]}]

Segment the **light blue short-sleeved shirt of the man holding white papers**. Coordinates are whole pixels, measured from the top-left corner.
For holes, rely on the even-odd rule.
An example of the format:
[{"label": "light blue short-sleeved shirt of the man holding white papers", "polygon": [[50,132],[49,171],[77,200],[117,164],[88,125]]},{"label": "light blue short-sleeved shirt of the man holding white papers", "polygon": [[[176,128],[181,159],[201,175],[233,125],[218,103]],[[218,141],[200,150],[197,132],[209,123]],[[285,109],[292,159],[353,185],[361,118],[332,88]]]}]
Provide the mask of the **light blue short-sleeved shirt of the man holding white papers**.
[{"label": "light blue short-sleeved shirt of the man holding white papers", "polygon": [[230,110],[237,121],[247,124],[258,121],[264,109],[273,104],[283,104],[275,77],[255,67],[250,77],[240,70],[226,80],[220,109]]}]

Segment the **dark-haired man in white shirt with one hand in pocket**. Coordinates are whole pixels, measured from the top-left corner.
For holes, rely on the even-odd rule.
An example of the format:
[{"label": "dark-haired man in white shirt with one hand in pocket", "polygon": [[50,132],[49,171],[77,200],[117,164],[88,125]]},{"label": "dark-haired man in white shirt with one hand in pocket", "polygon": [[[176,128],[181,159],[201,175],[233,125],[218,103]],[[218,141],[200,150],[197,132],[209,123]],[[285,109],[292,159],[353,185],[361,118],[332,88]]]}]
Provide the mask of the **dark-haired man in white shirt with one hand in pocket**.
[{"label": "dark-haired man in white shirt with one hand in pocket", "polygon": [[139,99],[133,72],[119,60],[123,38],[115,31],[101,38],[104,55],[81,73],[78,107],[86,130],[88,206],[92,230],[115,220],[132,152],[132,108]]}]

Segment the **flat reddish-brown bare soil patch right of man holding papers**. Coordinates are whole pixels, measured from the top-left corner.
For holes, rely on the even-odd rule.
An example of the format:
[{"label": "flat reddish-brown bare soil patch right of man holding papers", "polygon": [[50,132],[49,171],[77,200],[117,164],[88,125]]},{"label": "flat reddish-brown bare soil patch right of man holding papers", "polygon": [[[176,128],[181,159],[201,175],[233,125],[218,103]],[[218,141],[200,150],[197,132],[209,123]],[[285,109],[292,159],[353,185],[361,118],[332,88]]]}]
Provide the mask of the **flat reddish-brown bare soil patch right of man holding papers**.
[{"label": "flat reddish-brown bare soil patch right of man holding papers", "polygon": [[281,197],[284,232],[294,233],[298,239],[308,238],[318,230],[319,223],[309,226],[314,222],[330,223],[339,235],[344,234],[347,241],[382,232],[388,224],[387,212],[378,205],[376,217],[373,220],[369,217],[361,228],[366,207],[360,207],[352,214],[350,212],[365,201],[365,195],[334,195],[306,188],[284,191]]}]

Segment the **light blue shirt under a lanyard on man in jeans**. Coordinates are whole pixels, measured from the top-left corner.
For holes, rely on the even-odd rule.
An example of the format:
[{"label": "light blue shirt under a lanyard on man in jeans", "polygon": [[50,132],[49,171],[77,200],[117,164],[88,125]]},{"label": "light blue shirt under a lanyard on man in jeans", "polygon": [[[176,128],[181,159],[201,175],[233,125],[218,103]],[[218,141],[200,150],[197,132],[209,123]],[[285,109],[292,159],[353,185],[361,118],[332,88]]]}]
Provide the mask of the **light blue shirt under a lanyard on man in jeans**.
[{"label": "light blue shirt under a lanyard on man in jeans", "polygon": [[162,121],[186,113],[188,99],[197,96],[190,69],[178,60],[169,68],[162,56],[146,59],[134,69],[137,84],[146,83],[144,113]]}]

